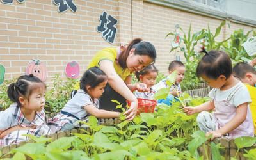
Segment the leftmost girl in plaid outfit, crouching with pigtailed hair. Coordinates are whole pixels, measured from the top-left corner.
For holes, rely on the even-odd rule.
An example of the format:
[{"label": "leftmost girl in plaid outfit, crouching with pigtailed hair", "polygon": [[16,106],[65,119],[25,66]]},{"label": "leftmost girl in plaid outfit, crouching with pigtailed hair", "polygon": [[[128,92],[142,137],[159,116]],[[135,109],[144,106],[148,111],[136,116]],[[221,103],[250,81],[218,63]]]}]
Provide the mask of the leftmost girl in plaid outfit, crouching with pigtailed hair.
[{"label": "leftmost girl in plaid outfit, crouching with pigtailed hair", "polygon": [[8,86],[8,97],[15,103],[0,112],[0,146],[27,141],[23,134],[50,133],[45,122],[45,84],[33,74],[20,76]]}]

